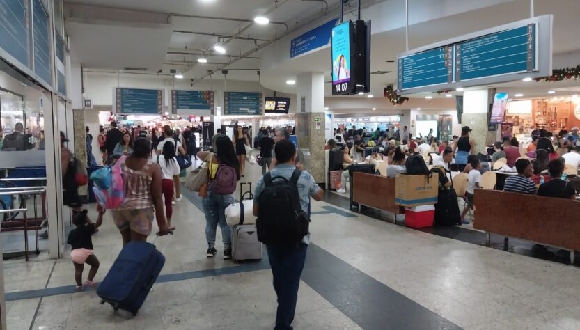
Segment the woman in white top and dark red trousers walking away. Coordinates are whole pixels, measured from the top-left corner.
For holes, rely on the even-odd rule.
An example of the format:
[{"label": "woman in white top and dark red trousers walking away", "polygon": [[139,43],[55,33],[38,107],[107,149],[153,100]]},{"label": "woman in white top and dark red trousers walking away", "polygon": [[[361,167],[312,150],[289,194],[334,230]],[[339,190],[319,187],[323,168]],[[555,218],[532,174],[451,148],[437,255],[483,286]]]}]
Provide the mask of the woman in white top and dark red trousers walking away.
[{"label": "woman in white top and dark red trousers walking away", "polygon": [[167,218],[167,226],[170,231],[175,230],[175,226],[171,227],[171,217],[173,216],[173,189],[175,184],[173,178],[179,175],[181,169],[177,159],[175,159],[175,148],[173,143],[164,143],[163,157],[157,155],[157,164],[161,167],[162,180],[161,192],[165,197],[165,216]]}]

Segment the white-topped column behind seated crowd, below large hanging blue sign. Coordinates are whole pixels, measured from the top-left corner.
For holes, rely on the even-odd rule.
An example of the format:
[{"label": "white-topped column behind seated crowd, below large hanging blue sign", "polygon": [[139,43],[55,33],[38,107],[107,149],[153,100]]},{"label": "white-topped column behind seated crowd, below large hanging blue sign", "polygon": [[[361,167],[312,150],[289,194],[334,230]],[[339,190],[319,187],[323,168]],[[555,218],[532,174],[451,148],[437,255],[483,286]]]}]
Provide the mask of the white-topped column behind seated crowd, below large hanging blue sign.
[{"label": "white-topped column behind seated crowd, below large hanging blue sign", "polygon": [[496,132],[489,132],[489,104],[494,97],[495,89],[480,89],[463,93],[463,114],[461,125],[471,128],[470,136],[476,141],[475,152],[485,155],[485,146],[496,140]]}]

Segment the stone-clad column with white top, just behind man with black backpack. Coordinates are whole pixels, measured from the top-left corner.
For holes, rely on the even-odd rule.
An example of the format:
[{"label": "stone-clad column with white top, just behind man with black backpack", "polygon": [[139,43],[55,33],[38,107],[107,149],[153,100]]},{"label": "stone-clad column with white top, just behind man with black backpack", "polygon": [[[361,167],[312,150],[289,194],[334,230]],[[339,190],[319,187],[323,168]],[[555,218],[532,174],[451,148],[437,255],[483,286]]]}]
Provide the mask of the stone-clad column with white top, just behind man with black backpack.
[{"label": "stone-clad column with white top, just behind man with black backpack", "polygon": [[304,169],[316,182],[324,182],[324,73],[306,72],[297,77],[296,135],[304,154]]}]

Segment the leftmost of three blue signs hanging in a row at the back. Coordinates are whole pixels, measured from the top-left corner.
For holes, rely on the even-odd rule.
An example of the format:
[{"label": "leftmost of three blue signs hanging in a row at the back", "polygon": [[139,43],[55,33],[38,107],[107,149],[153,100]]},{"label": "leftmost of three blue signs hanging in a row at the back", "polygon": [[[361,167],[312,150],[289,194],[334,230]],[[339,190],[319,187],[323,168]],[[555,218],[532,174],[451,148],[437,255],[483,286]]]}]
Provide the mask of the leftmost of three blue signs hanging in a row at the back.
[{"label": "leftmost of three blue signs hanging in a row at the back", "polygon": [[163,91],[160,89],[116,88],[116,112],[161,114]]}]

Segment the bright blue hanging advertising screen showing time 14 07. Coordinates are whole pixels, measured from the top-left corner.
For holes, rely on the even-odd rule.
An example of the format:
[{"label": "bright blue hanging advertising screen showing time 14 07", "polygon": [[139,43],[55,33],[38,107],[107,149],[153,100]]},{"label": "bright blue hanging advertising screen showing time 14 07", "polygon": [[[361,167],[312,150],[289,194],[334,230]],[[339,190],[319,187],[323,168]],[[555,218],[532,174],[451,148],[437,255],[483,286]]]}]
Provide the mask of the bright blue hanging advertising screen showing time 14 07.
[{"label": "bright blue hanging advertising screen showing time 14 07", "polygon": [[345,95],[352,91],[352,22],[344,22],[332,29],[332,94]]}]

